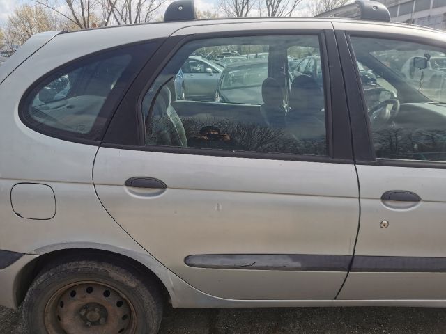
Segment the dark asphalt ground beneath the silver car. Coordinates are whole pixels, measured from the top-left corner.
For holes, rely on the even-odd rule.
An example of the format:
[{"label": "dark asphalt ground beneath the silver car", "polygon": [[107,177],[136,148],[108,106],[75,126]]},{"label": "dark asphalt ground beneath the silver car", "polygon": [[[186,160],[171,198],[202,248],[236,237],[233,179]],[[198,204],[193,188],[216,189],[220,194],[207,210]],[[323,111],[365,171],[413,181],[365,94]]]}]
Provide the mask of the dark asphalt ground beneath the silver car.
[{"label": "dark asphalt ground beneath the silver car", "polygon": [[[0,333],[24,334],[20,311],[0,308]],[[160,334],[445,334],[440,308],[164,310]]]}]

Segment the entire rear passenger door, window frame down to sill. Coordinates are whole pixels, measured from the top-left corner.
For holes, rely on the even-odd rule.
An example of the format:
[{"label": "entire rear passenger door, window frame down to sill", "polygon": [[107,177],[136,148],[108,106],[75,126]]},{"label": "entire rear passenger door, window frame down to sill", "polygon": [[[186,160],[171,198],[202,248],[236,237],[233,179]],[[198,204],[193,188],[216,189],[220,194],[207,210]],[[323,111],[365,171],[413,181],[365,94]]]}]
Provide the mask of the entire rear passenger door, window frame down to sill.
[{"label": "entire rear passenger door, window frame down to sill", "polygon": [[[290,34],[294,24],[270,24],[271,35],[254,39],[241,37],[238,24],[225,27],[226,38],[218,26],[208,27],[217,29],[215,38],[185,43],[154,75],[154,62],[168,51],[160,49],[141,72],[95,159],[98,196],[141,246],[201,292],[225,299],[334,299],[351,263],[359,207],[344,88],[328,80],[341,75],[331,25],[302,22]],[[191,29],[178,34],[197,33]],[[303,104],[294,90],[287,94],[293,99],[287,115],[297,116],[285,126],[267,125],[266,106],[172,101],[169,78],[190,54],[233,45],[246,54],[273,49],[270,73],[286,68],[277,60],[284,62],[287,50],[293,57],[309,49],[322,56],[325,86],[312,85],[305,98],[313,100],[304,101],[305,113],[314,116],[297,121]],[[286,76],[265,79],[263,100],[280,102],[267,111],[284,118],[285,95],[277,85]],[[298,81],[292,89],[305,89]],[[223,109],[228,117],[215,120],[213,111]],[[141,118],[140,128],[136,119],[128,122],[131,112]],[[314,134],[302,138],[298,129],[308,127]],[[138,131],[142,136],[132,143],[128,138]]]}]

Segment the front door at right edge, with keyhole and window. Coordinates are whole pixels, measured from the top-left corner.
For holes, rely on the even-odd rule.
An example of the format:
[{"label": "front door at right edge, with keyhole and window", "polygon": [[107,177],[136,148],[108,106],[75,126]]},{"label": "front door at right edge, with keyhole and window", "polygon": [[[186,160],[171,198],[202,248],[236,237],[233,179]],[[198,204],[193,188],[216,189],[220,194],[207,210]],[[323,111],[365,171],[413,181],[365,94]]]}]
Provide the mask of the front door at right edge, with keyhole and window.
[{"label": "front door at right edge, with keyhole and window", "polygon": [[[411,56],[444,55],[446,49],[436,33],[400,30],[375,37],[351,33],[355,60],[377,77],[374,89],[392,94],[368,87],[366,107],[351,106],[353,120],[366,109],[369,120],[354,126],[361,221],[339,299],[446,298],[446,107],[437,100],[443,87],[420,89],[399,74]],[[353,86],[361,86],[354,80],[347,80],[352,96]],[[363,141],[367,132],[371,144]]]}]

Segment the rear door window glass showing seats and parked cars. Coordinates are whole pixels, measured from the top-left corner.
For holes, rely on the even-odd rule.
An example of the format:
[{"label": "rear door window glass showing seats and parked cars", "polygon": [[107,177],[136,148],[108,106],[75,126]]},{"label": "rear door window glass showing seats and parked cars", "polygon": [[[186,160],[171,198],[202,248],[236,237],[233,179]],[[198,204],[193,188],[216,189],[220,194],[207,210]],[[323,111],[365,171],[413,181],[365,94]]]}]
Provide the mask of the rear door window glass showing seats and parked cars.
[{"label": "rear door window glass showing seats and parked cars", "polygon": [[[255,40],[180,49],[146,93],[146,144],[326,155],[318,36]],[[312,67],[299,72],[302,61]]]}]

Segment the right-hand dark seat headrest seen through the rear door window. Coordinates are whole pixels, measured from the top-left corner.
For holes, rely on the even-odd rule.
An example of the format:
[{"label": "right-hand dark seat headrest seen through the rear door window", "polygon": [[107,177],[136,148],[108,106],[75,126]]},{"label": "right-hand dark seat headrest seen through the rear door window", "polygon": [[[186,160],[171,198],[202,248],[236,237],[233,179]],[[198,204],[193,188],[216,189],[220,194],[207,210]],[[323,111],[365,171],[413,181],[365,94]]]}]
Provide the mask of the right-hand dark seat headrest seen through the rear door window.
[{"label": "right-hand dark seat headrest seen through the rear door window", "polygon": [[292,111],[314,114],[325,105],[324,96],[316,80],[308,75],[295,77],[291,84],[289,104]]}]

